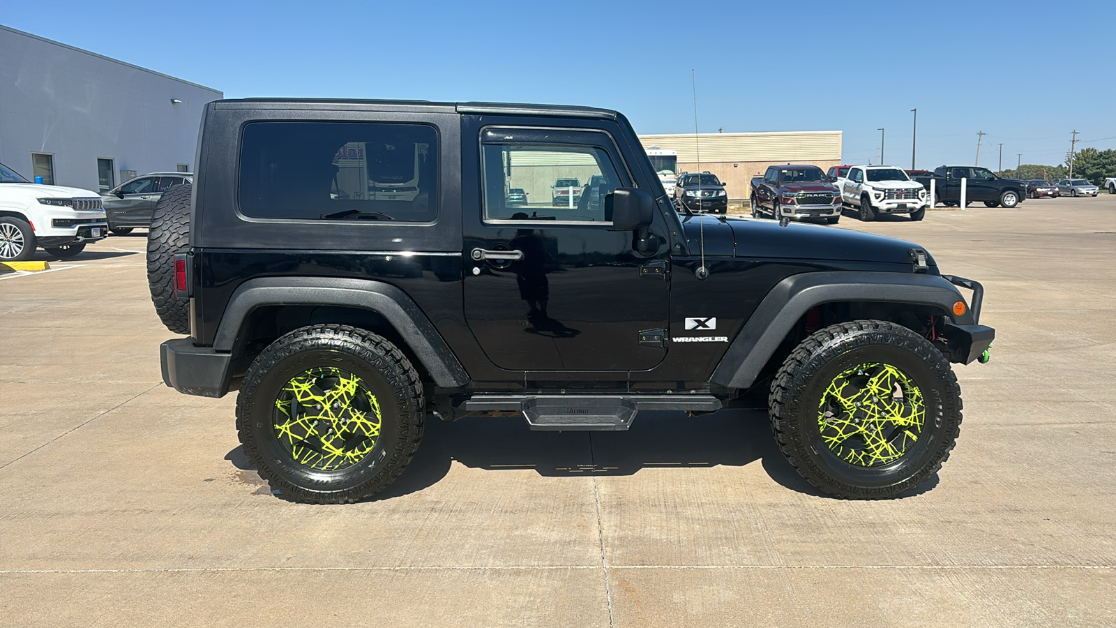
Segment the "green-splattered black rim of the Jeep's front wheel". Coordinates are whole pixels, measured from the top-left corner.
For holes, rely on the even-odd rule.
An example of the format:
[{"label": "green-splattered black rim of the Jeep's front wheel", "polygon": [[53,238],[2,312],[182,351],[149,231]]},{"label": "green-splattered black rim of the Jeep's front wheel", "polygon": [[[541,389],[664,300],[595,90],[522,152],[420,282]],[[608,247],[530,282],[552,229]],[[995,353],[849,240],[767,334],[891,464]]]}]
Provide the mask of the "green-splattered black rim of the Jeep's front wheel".
[{"label": "green-splattered black rim of the Jeep's front wheel", "polygon": [[818,403],[821,441],[858,467],[902,458],[922,437],[925,421],[926,403],[914,379],[878,362],[838,374]]}]

